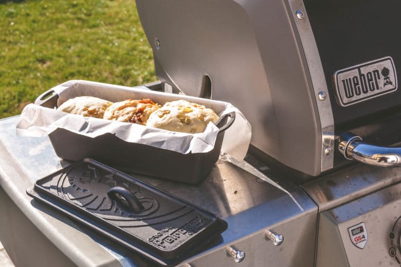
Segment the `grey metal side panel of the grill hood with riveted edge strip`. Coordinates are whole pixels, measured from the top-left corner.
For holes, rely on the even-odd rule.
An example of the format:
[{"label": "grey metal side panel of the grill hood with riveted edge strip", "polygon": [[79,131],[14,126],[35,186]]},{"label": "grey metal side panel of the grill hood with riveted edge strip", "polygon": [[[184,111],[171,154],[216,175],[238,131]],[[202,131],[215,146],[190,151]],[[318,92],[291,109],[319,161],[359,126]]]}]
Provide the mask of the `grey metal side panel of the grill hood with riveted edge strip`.
[{"label": "grey metal side panel of the grill hood with riveted edge strip", "polygon": [[[202,96],[209,77],[213,99],[232,103],[250,121],[254,147],[316,176],[333,166],[333,154],[324,155],[326,146],[334,147],[331,106],[328,99],[317,100],[318,92],[327,93],[327,88],[307,16],[298,20],[298,9],[291,11],[284,2],[136,4],[148,40],[157,37],[162,45],[156,49],[151,42],[156,74],[163,83],[173,91]],[[303,45],[315,45],[316,53],[307,53],[308,61],[294,20],[309,25]]]}]

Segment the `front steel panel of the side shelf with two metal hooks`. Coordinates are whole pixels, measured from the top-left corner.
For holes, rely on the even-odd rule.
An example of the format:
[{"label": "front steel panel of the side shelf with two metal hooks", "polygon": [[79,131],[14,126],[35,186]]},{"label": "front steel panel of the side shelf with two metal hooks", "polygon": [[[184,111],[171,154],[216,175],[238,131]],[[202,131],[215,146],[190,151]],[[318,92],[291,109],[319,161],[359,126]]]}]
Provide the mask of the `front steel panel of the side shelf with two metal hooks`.
[{"label": "front steel panel of the side shelf with two metal hooks", "polygon": [[[263,212],[262,208],[259,213]],[[309,247],[315,243],[316,218],[316,213],[304,214],[297,219],[285,220],[244,236],[230,245],[246,253],[246,258],[240,263],[242,266],[314,266],[315,253],[310,251]],[[249,215],[248,221],[250,220],[258,220],[258,218]],[[243,227],[247,225],[243,224]],[[265,232],[268,229],[274,229],[278,233],[291,237],[291,242],[283,242],[280,246],[266,242]],[[304,245],[308,246],[307,250],[303,247]],[[213,251],[194,256],[187,262],[194,266],[239,266],[231,256],[227,256],[226,247],[216,247]]]}]

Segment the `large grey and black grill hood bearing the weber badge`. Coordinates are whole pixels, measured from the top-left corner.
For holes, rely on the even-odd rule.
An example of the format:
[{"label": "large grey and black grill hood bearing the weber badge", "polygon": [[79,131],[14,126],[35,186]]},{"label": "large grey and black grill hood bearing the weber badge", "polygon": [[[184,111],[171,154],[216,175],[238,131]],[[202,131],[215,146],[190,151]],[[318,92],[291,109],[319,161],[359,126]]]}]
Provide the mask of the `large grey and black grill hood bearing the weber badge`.
[{"label": "large grey and black grill hood bearing the weber badge", "polygon": [[401,103],[401,2],[136,4],[166,90],[234,104],[252,125],[259,158],[317,176],[352,157],[338,152],[344,132],[380,146],[400,142],[401,124],[385,120]]}]

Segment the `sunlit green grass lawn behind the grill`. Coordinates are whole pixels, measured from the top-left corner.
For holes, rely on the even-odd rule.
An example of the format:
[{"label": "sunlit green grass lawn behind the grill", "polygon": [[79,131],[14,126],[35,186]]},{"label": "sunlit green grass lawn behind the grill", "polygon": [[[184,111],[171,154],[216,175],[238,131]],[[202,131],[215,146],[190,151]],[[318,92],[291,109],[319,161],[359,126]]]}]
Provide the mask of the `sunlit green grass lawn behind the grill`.
[{"label": "sunlit green grass lawn behind the grill", "polygon": [[156,79],[135,1],[0,0],[0,118],[71,79]]}]

